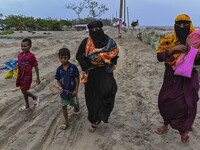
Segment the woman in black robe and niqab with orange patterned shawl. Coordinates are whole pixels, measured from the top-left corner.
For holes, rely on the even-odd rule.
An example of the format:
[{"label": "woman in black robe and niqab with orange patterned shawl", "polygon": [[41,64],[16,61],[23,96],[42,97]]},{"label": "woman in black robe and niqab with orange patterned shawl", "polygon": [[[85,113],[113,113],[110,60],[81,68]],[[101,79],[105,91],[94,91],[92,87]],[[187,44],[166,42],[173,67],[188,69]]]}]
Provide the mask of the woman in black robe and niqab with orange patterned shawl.
[{"label": "woman in black robe and niqab with orange patterned shawl", "polygon": [[89,37],[85,38],[76,54],[81,69],[81,83],[85,85],[90,132],[101,121],[107,123],[114,107],[117,84],[113,77],[118,58],[118,47],[113,39],[104,34],[101,21],[88,24]]}]

